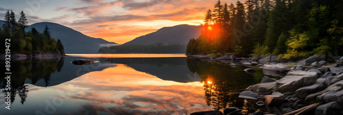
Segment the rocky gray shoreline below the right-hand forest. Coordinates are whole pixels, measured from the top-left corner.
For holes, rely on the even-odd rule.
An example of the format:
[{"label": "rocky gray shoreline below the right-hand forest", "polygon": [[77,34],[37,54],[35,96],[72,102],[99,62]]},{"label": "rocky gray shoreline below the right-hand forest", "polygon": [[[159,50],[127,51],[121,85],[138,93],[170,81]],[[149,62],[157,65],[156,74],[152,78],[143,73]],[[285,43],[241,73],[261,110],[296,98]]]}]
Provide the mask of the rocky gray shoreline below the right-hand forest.
[{"label": "rocky gray shoreline below the right-hand forest", "polygon": [[[343,56],[327,58],[318,53],[303,60],[278,61],[278,55],[261,57],[235,57],[224,55],[187,55],[192,60],[225,62],[230,66],[259,66],[265,75],[279,76],[276,80],[263,77],[261,84],[246,88],[240,98],[257,100],[257,105],[273,107],[274,112],[257,111],[254,114],[343,114]],[[246,68],[247,73],[254,73]],[[279,108],[275,110],[276,107]],[[241,114],[241,110],[228,107],[223,112],[208,111],[196,114]]]}]

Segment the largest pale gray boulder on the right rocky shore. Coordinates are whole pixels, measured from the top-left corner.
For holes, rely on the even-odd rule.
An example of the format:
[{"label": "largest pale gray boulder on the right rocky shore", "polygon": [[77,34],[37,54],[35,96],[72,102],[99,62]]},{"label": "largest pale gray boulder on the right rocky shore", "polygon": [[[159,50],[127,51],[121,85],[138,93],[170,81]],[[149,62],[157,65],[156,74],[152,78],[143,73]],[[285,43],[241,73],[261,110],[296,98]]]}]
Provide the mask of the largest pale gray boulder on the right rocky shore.
[{"label": "largest pale gray boulder on the right rocky shore", "polygon": [[289,71],[287,75],[276,81],[279,92],[294,92],[298,88],[310,86],[316,83],[318,75],[314,72]]}]

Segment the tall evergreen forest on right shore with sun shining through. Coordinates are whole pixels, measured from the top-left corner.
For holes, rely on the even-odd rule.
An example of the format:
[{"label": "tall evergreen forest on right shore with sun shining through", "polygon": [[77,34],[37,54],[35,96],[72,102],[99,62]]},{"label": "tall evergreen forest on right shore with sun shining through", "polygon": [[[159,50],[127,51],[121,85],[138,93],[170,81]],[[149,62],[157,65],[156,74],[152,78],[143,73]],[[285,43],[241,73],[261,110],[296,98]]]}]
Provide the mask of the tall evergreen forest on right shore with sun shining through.
[{"label": "tall evergreen forest on right shore with sun shining through", "polygon": [[343,1],[247,0],[215,4],[187,54],[343,55]]}]

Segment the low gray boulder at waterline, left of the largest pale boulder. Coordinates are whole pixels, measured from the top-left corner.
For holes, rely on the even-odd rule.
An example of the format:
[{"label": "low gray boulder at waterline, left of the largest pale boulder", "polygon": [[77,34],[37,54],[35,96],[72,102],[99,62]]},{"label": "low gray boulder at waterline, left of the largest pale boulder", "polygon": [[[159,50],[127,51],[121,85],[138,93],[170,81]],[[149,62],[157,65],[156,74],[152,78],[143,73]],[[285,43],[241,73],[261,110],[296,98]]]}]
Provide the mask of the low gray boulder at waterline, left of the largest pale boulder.
[{"label": "low gray boulder at waterline, left of the largest pale boulder", "polygon": [[272,94],[276,90],[276,82],[255,84],[255,85],[249,86],[248,88],[246,88],[246,90],[250,90],[257,94],[263,94],[263,95]]}]

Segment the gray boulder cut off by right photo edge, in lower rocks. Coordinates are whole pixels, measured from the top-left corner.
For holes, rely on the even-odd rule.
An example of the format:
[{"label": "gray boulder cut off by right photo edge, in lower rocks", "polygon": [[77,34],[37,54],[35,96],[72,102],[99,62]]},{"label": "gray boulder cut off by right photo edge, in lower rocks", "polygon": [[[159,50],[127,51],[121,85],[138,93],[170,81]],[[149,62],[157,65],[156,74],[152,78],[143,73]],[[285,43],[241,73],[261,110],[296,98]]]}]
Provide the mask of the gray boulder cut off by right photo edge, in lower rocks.
[{"label": "gray boulder cut off by right photo edge, in lower rocks", "polygon": [[343,98],[343,80],[327,87],[322,94],[317,97],[319,102],[340,101]]}]

